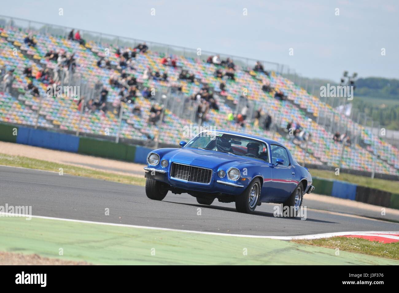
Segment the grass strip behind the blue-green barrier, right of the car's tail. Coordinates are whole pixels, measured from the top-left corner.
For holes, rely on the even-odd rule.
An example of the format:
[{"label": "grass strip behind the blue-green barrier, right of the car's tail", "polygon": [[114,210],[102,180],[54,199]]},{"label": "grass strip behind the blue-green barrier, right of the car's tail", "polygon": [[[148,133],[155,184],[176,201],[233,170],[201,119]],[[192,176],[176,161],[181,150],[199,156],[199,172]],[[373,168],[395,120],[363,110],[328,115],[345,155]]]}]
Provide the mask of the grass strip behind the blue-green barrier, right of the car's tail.
[{"label": "grass strip behind the blue-green barrier, right of the car's tail", "polygon": [[[399,190],[399,181],[395,180],[386,180],[379,178],[371,179],[370,177],[346,174],[346,173],[340,173],[339,176],[336,176],[335,171],[318,170],[318,169],[309,169],[309,172],[314,177],[346,181],[360,186],[380,189],[392,193],[397,193]],[[317,191],[315,192],[317,193]]]}]

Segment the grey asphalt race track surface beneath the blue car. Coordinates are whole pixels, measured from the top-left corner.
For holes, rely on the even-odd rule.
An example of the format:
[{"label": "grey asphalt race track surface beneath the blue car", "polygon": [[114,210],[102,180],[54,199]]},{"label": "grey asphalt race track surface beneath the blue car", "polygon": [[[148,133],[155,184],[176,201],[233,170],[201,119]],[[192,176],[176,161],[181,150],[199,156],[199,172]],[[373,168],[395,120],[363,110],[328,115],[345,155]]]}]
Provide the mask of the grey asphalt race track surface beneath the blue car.
[{"label": "grey asphalt race track surface beneath the blue car", "polygon": [[[263,204],[249,215],[236,212],[234,203],[216,200],[211,206],[200,205],[188,194],[171,192],[163,201],[154,201],[146,197],[144,187],[24,168],[0,166],[0,188],[0,205],[32,205],[32,215],[47,217],[273,236],[399,231],[399,223],[312,210],[313,202],[306,201],[306,195],[308,211],[303,221],[274,217],[272,204]],[[320,202],[314,204],[322,208]],[[201,215],[197,215],[199,207]]]}]

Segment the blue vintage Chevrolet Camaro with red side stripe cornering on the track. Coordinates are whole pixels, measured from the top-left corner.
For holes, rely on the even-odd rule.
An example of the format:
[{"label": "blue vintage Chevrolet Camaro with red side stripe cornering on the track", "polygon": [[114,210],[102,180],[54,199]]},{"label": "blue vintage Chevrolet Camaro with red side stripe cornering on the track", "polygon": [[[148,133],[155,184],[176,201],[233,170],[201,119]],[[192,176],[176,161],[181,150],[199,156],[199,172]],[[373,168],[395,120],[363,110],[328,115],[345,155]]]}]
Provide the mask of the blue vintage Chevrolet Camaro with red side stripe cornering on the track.
[{"label": "blue vintage Chevrolet Camaro with red side stripe cornering on the track", "polygon": [[147,156],[146,195],[162,200],[172,191],[188,193],[198,203],[215,198],[235,202],[237,211],[251,213],[261,203],[282,203],[296,216],[304,193],[314,190],[308,169],[279,142],[239,132],[204,131]]}]

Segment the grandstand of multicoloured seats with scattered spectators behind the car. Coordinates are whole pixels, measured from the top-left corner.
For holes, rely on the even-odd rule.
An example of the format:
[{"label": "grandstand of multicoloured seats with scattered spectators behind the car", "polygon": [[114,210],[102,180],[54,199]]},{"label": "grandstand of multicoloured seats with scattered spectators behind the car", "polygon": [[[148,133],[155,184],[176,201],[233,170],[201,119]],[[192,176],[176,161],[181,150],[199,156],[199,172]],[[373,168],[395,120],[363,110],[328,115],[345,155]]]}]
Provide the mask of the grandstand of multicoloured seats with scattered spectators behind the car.
[{"label": "grandstand of multicoloured seats with scattered spectators behind the car", "polygon": [[[24,44],[24,38],[29,32],[35,37],[36,46]],[[221,95],[221,78],[215,77],[215,70],[219,68],[209,64],[202,58],[176,56],[177,67],[164,66],[161,63],[165,56],[153,48],[144,54],[137,54],[134,58],[134,70],[127,68],[126,73],[136,78],[142,87],[156,88],[156,101],[166,106],[161,122],[153,125],[148,122],[152,102],[138,93],[134,103],[122,103],[121,119],[112,105],[118,99],[120,88],[109,86],[107,104],[109,110],[102,114],[99,110],[80,112],[77,102],[69,97],[49,97],[46,95],[47,84],[33,79],[40,97],[29,94],[26,88],[29,78],[24,76],[24,68],[31,67],[32,72],[43,68],[53,70],[55,61],[49,61],[45,54],[49,50],[63,50],[75,54],[77,64],[75,77],[80,85],[87,86],[87,96],[95,95],[95,84],[108,84],[110,76],[120,77],[118,68],[119,57],[117,49],[124,50],[129,46],[112,46],[102,42],[86,42],[85,46],[73,40],[67,40],[62,35],[45,34],[43,32],[21,29],[16,26],[4,26],[0,34],[0,68],[14,69],[15,82],[11,93],[0,92],[0,121],[12,124],[24,124],[40,128],[51,128],[55,131],[80,133],[92,136],[119,136],[127,142],[151,145],[154,137],[157,144],[177,145],[183,137],[184,126],[199,123],[203,126],[237,130],[255,135],[269,137],[281,141],[288,146],[294,157],[301,163],[308,165],[340,166],[345,169],[375,172],[389,175],[399,175],[398,149],[387,144],[369,129],[352,121],[344,114],[338,113],[317,97],[311,96],[304,89],[296,86],[292,81],[284,78],[279,72],[254,72],[251,67],[237,66],[235,80],[226,83],[225,94]],[[107,53],[105,53],[107,52]],[[107,57],[111,69],[99,68],[97,62]],[[201,56],[197,56],[201,57]],[[147,80],[143,78],[147,67],[167,72],[168,81]],[[195,75],[196,81],[189,82],[179,78],[184,68]],[[264,82],[269,82],[273,90],[262,90]],[[191,99],[204,85],[209,86],[215,93],[219,110],[210,109],[206,120],[196,120],[196,102]],[[181,89],[176,90],[176,89]],[[250,115],[254,109],[262,108],[264,113],[272,116],[273,127],[270,131],[254,127],[253,123],[246,123],[243,127],[227,119],[228,115],[236,114],[243,106],[243,90],[250,103]],[[275,92],[280,91],[287,100],[278,100]],[[164,99],[162,96],[166,96]],[[165,101],[166,100],[166,101]],[[134,106],[139,106],[141,114],[133,114]],[[39,113],[39,115],[38,115]],[[332,140],[333,134],[321,124],[317,118],[320,113],[334,117],[332,123],[345,124],[352,136],[358,136],[358,143],[344,147],[343,144]],[[37,119],[39,117],[39,119]],[[290,140],[284,132],[288,122],[295,121],[312,136],[305,144],[297,144]]]}]

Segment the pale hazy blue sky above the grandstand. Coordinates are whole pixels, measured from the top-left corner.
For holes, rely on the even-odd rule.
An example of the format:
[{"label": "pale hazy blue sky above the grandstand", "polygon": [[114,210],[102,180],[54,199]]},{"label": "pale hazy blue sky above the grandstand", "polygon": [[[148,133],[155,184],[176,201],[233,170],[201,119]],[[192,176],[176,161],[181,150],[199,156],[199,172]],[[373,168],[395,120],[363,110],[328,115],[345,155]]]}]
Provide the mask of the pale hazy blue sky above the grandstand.
[{"label": "pale hazy blue sky above the grandstand", "polygon": [[396,0],[15,0],[2,1],[0,14],[277,62],[338,82],[344,70],[399,78],[398,12]]}]

